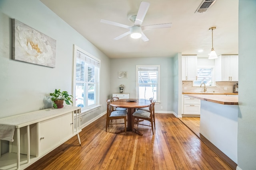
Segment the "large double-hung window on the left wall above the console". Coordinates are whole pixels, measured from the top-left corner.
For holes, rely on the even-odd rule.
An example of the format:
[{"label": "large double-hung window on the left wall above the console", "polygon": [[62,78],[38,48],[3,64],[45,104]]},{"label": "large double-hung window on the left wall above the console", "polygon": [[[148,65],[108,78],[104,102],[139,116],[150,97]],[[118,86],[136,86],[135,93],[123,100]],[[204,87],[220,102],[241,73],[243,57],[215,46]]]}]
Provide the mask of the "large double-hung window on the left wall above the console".
[{"label": "large double-hung window on the left wall above the console", "polygon": [[99,103],[100,60],[75,46],[74,106],[82,110]]}]

